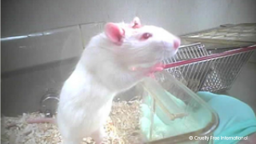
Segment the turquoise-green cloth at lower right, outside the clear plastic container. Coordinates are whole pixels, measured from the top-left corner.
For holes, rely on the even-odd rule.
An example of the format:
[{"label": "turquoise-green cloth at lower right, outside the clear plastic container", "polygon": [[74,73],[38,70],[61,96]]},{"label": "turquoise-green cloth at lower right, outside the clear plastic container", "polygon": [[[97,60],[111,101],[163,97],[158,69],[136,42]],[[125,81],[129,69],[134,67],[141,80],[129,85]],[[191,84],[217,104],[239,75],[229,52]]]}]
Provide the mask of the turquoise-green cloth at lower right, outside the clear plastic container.
[{"label": "turquoise-green cloth at lower right, outside the clear plastic container", "polygon": [[[206,101],[218,114],[219,125],[214,131],[214,137],[245,137],[256,132],[256,117],[254,110],[246,103],[223,94],[198,92],[200,98]],[[234,144],[238,139],[214,140],[214,144]]]}]

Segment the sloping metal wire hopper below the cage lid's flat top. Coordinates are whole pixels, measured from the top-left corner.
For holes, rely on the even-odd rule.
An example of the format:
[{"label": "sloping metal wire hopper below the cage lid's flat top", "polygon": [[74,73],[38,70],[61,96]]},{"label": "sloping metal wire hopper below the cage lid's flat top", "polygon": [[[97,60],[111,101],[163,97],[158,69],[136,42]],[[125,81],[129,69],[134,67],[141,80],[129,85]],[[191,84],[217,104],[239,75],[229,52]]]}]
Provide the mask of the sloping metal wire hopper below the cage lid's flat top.
[{"label": "sloping metal wire hopper below the cage lid's flat top", "polygon": [[[198,90],[221,92],[230,89],[230,86],[238,77],[242,66],[249,60],[254,50],[239,52],[218,58],[210,58],[204,61],[190,62],[166,69],[180,82],[197,92]],[[210,55],[201,43],[183,46],[176,57],[166,59],[165,64],[202,58]]]}]

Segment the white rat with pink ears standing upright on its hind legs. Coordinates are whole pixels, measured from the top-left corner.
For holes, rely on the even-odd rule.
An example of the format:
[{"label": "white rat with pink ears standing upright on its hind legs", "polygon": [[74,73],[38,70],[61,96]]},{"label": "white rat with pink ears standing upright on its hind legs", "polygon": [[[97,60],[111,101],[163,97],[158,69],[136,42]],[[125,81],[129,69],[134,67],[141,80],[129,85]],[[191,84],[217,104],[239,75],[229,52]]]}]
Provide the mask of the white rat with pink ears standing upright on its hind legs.
[{"label": "white rat with pink ears standing upright on its hind legs", "polygon": [[163,70],[159,62],[176,54],[179,46],[179,38],[157,26],[142,26],[139,18],[131,24],[106,23],[62,87],[57,124],[63,142],[78,144],[91,137],[101,143],[114,96]]}]

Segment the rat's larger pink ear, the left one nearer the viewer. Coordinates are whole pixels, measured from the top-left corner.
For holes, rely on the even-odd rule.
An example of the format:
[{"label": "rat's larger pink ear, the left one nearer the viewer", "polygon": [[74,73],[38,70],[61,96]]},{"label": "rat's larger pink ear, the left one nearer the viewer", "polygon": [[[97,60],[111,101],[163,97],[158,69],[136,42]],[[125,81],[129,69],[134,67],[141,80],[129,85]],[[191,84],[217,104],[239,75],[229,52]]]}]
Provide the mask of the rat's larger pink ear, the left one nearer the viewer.
[{"label": "rat's larger pink ear, the left one nearer the viewer", "polygon": [[107,23],[105,26],[105,34],[111,42],[115,44],[122,44],[122,38],[124,37],[124,30],[120,28],[117,24],[112,22]]}]

